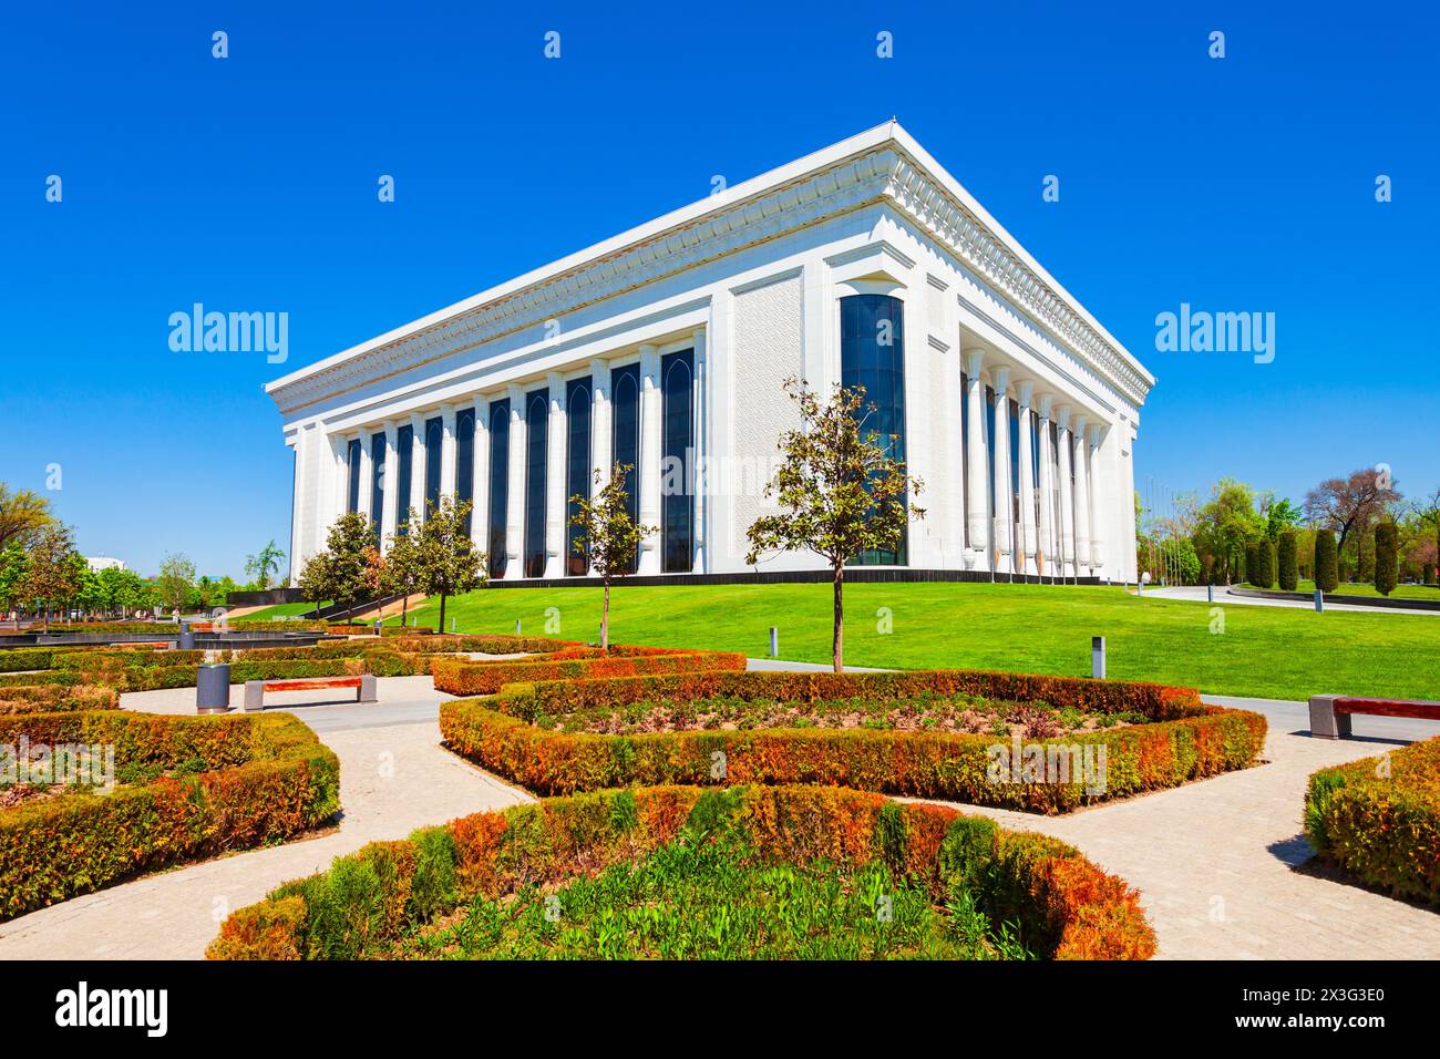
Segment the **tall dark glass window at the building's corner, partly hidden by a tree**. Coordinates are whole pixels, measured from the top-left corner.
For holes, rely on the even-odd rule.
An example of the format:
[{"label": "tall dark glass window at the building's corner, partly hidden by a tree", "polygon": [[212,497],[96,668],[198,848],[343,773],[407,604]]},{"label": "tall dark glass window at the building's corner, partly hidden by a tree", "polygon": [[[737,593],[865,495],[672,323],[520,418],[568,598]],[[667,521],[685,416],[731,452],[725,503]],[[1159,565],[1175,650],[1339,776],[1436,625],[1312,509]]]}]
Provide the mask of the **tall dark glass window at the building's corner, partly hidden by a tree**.
[{"label": "tall dark glass window at the building's corner, partly hidden by a tree", "polygon": [[[888,441],[890,458],[904,463],[904,303],[886,294],[855,294],[840,300],[840,380],[864,386],[867,431]],[[901,499],[901,503],[909,503]],[[860,566],[903,566],[906,537],[893,552],[864,552]]]}]

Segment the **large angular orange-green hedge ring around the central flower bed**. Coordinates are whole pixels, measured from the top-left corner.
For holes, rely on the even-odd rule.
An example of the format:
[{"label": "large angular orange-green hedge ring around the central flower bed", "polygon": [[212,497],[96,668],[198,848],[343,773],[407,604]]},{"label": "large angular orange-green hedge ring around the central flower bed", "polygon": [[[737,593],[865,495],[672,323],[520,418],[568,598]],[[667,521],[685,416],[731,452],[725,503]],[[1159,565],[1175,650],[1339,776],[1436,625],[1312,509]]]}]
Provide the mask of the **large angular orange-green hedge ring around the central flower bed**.
[{"label": "large angular orange-green hedge ring around the central flower bed", "polygon": [[[593,735],[553,732],[530,723],[543,712],[665,696],[806,702],[924,693],[1043,700],[1083,710],[1138,710],[1152,722],[1025,741],[1027,746],[1044,746],[1047,758],[1051,748],[1060,755],[1060,748],[1080,748],[1084,754],[1086,746],[1103,746],[1104,790],[1096,792],[1087,792],[1081,782],[992,782],[989,748],[1009,743],[991,735],[867,728]],[[814,782],[1053,814],[1246,768],[1264,745],[1266,719],[1247,710],[1207,706],[1191,689],[1161,684],[966,670],[701,673],[514,684],[492,699],[441,703],[441,735],[456,754],[539,794],[675,782]],[[1100,751],[1090,754],[1097,758]],[[716,777],[716,761],[721,759],[723,775]]]}]

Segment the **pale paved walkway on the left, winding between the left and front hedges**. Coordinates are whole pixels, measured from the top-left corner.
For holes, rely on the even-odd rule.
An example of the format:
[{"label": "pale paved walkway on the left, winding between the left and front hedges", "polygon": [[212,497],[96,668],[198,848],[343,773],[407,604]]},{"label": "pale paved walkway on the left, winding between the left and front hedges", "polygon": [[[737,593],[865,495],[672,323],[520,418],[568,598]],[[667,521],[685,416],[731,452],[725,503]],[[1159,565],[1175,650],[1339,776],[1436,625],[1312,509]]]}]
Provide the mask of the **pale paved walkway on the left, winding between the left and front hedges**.
[{"label": "pale paved walkway on the left, winding between the left and front hedges", "polygon": [[[220,921],[367,841],[530,795],[441,749],[429,677],[384,677],[380,702],[292,712],[340,755],[340,828],[318,839],[176,867],[0,924],[0,960],[199,960]],[[232,689],[232,702],[243,692]],[[275,706],[315,692],[266,696]],[[324,694],[324,693],[321,693]],[[125,694],[125,709],[193,713],[194,689]]]}]

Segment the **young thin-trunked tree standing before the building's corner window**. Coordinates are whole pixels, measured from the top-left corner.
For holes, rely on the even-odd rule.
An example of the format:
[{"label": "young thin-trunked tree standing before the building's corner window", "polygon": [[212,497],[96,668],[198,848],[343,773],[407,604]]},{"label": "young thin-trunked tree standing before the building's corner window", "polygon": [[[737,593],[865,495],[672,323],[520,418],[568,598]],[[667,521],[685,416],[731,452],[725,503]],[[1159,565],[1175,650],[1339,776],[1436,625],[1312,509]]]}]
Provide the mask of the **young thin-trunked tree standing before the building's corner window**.
[{"label": "young thin-trunked tree standing before the building's corner window", "polygon": [[909,503],[924,483],[891,458],[896,438],[867,426],[874,405],[863,386],[835,386],[828,403],[798,379],[785,390],[799,408],[799,429],[780,435],[782,464],[765,496],[778,496],[778,514],[760,516],[747,536],[746,562],[762,552],[806,549],[829,562],[834,591],[831,660],[845,669],[845,563],[863,552],[894,552],[904,542],[910,517],[924,510]]}]

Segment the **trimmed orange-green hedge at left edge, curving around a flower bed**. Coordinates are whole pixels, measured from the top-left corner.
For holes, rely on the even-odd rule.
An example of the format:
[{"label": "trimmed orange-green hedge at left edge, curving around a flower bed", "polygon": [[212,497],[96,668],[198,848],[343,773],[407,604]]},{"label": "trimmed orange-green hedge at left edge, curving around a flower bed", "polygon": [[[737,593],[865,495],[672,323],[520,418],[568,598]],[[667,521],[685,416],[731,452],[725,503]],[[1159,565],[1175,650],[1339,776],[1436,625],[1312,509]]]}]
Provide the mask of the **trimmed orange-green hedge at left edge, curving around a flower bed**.
[{"label": "trimmed orange-green hedge at left edge, curving around a flower bed", "polygon": [[0,921],[140,872],[269,846],[340,808],[340,761],[298,718],[86,710],[0,718],[0,745],[114,745],[117,767],[203,772],[0,810]]}]

